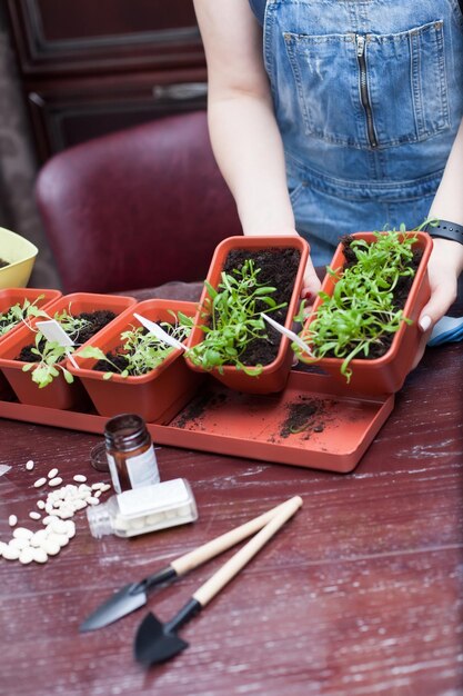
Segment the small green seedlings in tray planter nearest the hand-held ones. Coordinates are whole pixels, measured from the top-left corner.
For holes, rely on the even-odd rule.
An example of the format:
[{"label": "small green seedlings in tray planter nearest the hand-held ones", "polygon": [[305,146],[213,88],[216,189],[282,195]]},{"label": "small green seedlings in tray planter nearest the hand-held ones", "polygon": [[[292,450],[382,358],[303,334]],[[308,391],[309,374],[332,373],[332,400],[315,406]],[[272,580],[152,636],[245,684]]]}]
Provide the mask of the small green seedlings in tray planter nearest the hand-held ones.
[{"label": "small green seedlings in tray planter nearest the hand-held ones", "polygon": [[[179,341],[183,341],[191,330],[192,319],[180,311],[178,317],[173,311],[170,314],[172,314],[175,322],[169,324],[161,321],[160,326],[170,336]],[[143,327],[131,327],[127,331],[123,331],[121,334],[121,340],[123,341],[121,348],[112,356],[111,354],[104,354],[95,346],[82,348],[79,351],[79,356],[107,362],[110,369],[104,372],[103,379],[111,379],[114,374],[121,377],[145,375],[159,367],[172,350],[174,350],[174,348],[168,346],[153,334],[147,334]],[[119,357],[123,358],[123,362],[125,364],[123,369],[114,362]]]}]

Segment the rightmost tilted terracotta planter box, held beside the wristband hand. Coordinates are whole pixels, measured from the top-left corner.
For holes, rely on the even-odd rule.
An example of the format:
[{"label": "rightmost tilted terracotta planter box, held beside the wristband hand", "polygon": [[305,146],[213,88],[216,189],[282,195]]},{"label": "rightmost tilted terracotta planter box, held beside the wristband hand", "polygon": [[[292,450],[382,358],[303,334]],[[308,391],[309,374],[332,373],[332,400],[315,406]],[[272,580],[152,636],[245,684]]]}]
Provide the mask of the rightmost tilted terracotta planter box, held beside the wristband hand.
[{"label": "rightmost tilted terracotta planter box, held beside the wristband hand", "polygon": [[[423,252],[420,266],[413,278],[413,284],[409,292],[409,297],[405,306],[403,307],[404,316],[412,320],[411,325],[402,322],[400,329],[394,335],[391,347],[382,357],[376,359],[361,359],[354,358],[350,362],[352,369],[352,376],[346,382],[346,378],[341,374],[342,358],[322,358],[316,360],[315,365],[326,372],[332,378],[343,385],[346,391],[356,391],[362,395],[380,395],[380,394],[394,394],[397,391],[405,381],[406,375],[410,372],[413,366],[415,355],[419,350],[422,332],[417,326],[417,319],[424,305],[427,302],[431,290],[427,278],[427,261],[432,251],[432,239],[425,232],[404,232],[405,235],[415,235],[417,241],[414,248],[421,249]],[[354,239],[363,239],[368,242],[374,243],[375,236],[373,232],[358,232],[352,235]],[[345,261],[342,243],[339,245],[333,260],[330,264],[331,268],[340,269]],[[331,296],[335,286],[335,279],[329,275],[325,276],[321,290]],[[310,339],[306,338],[306,331],[310,328],[311,322],[314,320],[316,310],[322,305],[323,300],[319,297],[313,306],[313,312],[309,317],[304,325],[301,337],[310,346]],[[304,362],[303,356],[300,356]]]}]

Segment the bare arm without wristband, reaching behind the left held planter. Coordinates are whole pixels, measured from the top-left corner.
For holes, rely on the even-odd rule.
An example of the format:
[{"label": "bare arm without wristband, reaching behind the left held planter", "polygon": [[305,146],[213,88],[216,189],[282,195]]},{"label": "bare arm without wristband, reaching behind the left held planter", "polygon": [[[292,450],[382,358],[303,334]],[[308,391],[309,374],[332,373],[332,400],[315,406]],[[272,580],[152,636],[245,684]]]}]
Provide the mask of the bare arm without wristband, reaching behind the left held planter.
[{"label": "bare arm without wristband, reaching behind the left held planter", "polygon": [[[248,0],[194,0],[208,62],[212,148],[244,235],[295,235],[283,145]],[[306,295],[320,282],[309,264]]]}]

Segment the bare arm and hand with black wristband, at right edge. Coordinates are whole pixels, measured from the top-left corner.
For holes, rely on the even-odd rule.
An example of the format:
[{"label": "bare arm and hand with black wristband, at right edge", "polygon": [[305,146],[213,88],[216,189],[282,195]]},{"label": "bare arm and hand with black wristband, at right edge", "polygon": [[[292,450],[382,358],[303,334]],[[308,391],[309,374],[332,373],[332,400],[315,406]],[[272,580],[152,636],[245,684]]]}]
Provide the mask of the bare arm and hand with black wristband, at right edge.
[{"label": "bare arm and hand with black wristband, at right edge", "polygon": [[[463,225],[463,120],[430,210],[430,218]],[[431,299],[420,316],[420,327],[430,330],[455,301],[463,271],[463,245],[435,238],[429,262]]]}]

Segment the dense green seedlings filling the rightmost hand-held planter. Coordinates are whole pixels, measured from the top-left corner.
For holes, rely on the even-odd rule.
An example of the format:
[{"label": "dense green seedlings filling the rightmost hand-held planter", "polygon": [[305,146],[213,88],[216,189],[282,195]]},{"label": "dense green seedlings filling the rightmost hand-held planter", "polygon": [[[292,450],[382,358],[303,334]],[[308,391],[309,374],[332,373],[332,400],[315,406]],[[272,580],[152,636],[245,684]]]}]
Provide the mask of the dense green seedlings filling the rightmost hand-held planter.
[{"label": "dense green seedlings filling the rightmost hand-held planter", "polygon": [[[313,360],[305,358],[305,361],[315,362],[325,356],[341,358],[341,374],[349,382],[350,364],[354,358],[369,358],[373,346],[382,345],[403,322],[412,324],[403,310],[394,306],[394,289],[400,279],[413,277],[415,272],[411,262],[416,237],[403,237],[404,231],[401,225],[399,231],[375,232],[373,243],[354,240],[350,248],[355,262],[339,270],[326,268],[335,285],[331,296],[319,292],[323,302],[301,336],[313,354]],[[303,304],[294,319],[305,320]],[[296,344],[292,348],[301,352]]]}]

